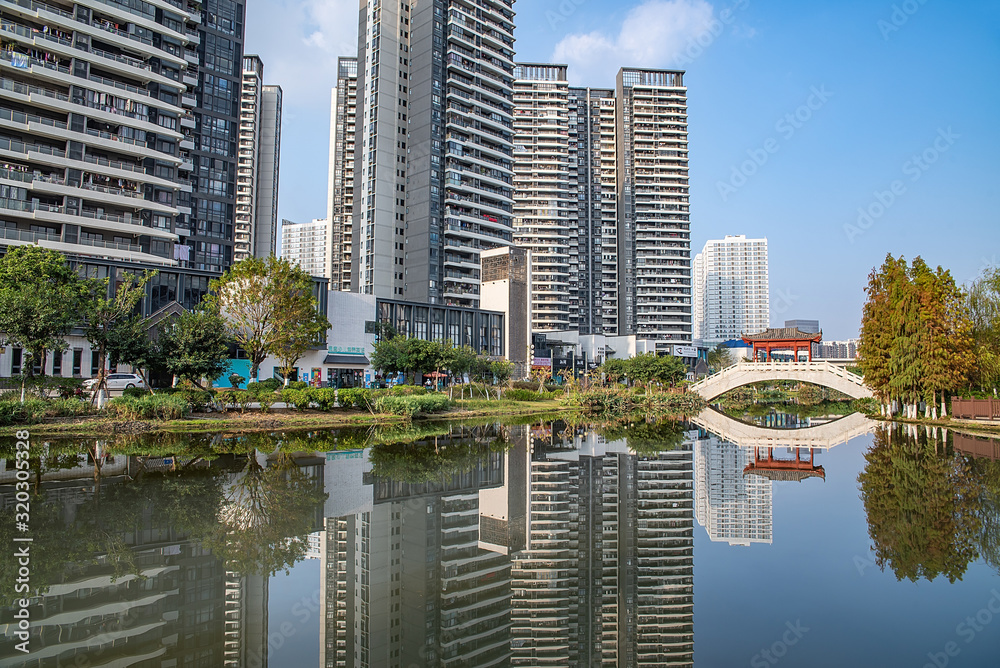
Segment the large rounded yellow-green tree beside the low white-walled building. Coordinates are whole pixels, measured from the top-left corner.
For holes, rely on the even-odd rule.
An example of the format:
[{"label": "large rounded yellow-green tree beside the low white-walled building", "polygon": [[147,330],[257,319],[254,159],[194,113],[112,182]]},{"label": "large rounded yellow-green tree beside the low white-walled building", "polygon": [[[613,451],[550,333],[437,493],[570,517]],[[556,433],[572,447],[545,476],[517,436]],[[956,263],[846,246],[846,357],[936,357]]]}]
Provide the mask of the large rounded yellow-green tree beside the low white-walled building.
[{"label": "large rounded yellow-green tree beside the low white-walled building", "polygon": [[291,334],[297,325],[311,331],[316,324],[312,278],[284,258],[241,260],[209,288],[206,301],[224,315],[228,331],[246,352],[253,381],[279,340],[299,339]]}]

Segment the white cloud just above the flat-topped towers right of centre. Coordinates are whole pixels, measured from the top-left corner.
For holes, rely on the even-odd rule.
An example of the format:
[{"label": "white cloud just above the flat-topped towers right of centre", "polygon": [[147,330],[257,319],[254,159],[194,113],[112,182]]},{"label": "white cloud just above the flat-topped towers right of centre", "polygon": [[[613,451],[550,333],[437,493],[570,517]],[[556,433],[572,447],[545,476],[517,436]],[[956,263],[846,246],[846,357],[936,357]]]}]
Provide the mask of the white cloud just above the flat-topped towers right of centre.
[{"label": "white cloud just above the flat-topped towers right of centre", "polygon": [[574,83],[611,86],[621,67],[682,65],[692,43],[721,27],[713,13],[706,0],[646,0],[628,12],[616,35],[602,30],[567,35],[552,59],[569,65]]}]

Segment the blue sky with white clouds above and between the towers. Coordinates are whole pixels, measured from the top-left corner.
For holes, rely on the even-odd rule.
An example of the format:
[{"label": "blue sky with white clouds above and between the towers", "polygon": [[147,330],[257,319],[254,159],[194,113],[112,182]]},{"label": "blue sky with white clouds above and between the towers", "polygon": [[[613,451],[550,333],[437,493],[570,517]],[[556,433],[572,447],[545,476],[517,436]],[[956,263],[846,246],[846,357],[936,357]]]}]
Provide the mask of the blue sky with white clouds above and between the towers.
[{"label": "blue sky with white clouds above and between the towers", "polygon": [[[279,215],[325,216],[330,89],[356,0],[253,0],[246,51],[284,90]],[[886,253],[971,281],[1000,257],[1000,4],[556,0],[515,4],[518,60],[574,84],[687,72],[691,245],[766,236],[771,320],[857,335]],[[860,210],[860,211],[859,211]],[[861,212],[867,215],[862,216]]]}]

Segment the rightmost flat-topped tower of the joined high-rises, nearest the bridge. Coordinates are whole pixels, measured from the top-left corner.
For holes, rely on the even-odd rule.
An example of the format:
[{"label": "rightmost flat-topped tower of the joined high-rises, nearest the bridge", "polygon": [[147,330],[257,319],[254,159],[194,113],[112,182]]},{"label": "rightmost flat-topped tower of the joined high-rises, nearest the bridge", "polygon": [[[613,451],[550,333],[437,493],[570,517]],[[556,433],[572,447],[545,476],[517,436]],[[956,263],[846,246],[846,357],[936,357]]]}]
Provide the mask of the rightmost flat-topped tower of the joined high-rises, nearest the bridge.
[{"label": "rightmost flat-topped tower of the joined high-rises, nearest the bridge", "polygon": [[691,342],[683,72],[618,72],[618,329],[657,350]]}]

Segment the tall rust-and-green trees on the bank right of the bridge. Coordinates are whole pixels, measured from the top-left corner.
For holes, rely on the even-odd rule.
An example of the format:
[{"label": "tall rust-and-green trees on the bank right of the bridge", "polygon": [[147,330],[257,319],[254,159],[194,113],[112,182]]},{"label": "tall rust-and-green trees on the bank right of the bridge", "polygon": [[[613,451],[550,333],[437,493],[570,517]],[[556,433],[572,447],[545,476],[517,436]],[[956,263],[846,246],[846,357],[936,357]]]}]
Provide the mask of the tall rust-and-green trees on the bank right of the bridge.
[{"label": "tall rust-and-green trees on the bank right of the bridge", "polygon": [[883,412],[917,416],[920,402],[936,417],[949,391],[963,387],[974,367],[972,327],[964,296],[948,271],[919,257],[908,266],[887,256],[868,280],[859,365]]}]

